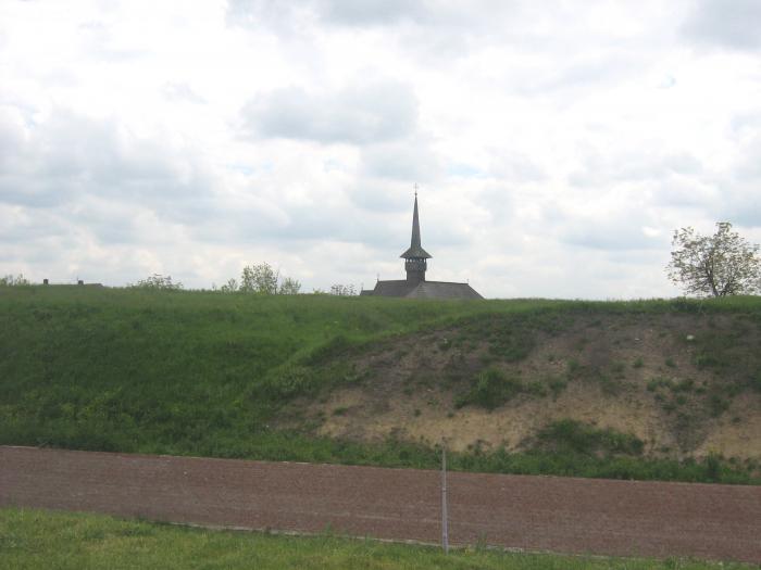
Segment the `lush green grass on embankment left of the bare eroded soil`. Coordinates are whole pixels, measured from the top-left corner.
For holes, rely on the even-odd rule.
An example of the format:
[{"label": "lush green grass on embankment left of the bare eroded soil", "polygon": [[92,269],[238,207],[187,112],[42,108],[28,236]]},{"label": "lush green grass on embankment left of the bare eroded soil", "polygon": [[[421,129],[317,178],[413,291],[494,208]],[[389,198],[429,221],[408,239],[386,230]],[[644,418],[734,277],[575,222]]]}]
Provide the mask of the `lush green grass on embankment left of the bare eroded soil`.
[{"label": "lush green grass on embankment left of the bare eroded soil", "polygon": [[3,288],[0,442],[213,453],[353,344],[486,311],[325,296]]}]

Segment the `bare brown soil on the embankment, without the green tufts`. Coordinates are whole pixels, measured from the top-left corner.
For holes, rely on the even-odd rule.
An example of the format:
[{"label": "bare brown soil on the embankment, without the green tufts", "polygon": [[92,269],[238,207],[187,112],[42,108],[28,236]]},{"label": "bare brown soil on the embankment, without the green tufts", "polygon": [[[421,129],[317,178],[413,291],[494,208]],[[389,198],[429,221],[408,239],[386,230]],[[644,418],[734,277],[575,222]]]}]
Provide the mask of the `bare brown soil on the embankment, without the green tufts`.
[{"label": "bare brown soil on the embankment, without the green tufts", "polygon": [[[744,326],[744,325],[739,325]],[[334,390],[315,402],[297,401],[284,425],[311,422],[320,435],[378,441],[388,436],[450,448],[527,448],[551,421],[574,419],[633,433],[648,456],[761,459],[761,393],[731,393],[737,379],[696,365],[688,335],[724,334],[738,327],[729,317],[617,315],[578,318],[566,330],[537,333],[537,342],[517,363],[495,359],[488,340],[458,341],[457,330],[438,330],[386,342],[354,358],[365,379]],[[744,340],[761,345],[758,330]],[[524,383],[545,387],[545,395],[523,393],[495,410],[457,408],[466,383],[486,367],[497,367]],[[578,371],[570,370],[577,367]],[[759,370],[758,373],[761,373]],[[600,381],[598,377],[604,377]],[[693,388],[648,390],[653,379]],[[549,385],[564,381],[553,393]],[[712,394],[726,401],[710,413]],[[671,409],[670,409],[671,407]]]}]

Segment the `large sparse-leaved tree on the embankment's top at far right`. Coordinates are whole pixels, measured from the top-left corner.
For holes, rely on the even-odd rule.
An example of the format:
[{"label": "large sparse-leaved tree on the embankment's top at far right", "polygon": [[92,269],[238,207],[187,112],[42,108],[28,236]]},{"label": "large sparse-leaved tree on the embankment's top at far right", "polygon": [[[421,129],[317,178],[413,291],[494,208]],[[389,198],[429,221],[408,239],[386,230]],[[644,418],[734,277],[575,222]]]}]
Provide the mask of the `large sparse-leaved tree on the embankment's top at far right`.
[{"label": "large sparse-leaved tree on the embankment's top at far right", "polygon": [[675,230],[672,245],[669,279],[682,284],[686,294],[726,296],[759,290],[759,246],[732,231],[728,221],[719,221],[713,236],[689,227]]}]

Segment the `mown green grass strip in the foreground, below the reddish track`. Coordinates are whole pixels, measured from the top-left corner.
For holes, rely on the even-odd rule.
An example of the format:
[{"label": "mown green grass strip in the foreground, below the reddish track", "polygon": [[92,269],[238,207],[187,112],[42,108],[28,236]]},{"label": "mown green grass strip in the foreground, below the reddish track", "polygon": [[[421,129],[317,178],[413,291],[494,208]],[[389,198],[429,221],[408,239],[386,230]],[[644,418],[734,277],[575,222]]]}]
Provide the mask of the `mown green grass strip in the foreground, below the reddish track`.
[{"label": "mown green grass strip in the foreground, below the reddish track", "polygon": [[[191,529],[112,517],[0,509],[0,568],[750,569],[697,560],[585,558],[319,536]],[[758,568],[758,567],[756,567]]]}]

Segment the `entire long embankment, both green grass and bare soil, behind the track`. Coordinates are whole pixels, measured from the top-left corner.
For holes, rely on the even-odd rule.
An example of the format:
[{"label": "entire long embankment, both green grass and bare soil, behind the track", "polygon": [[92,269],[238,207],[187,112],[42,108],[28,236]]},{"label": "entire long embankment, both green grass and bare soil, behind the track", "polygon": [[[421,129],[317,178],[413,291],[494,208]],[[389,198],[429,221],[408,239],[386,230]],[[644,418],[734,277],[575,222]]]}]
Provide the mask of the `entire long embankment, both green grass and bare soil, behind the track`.
[{"label": "entire long embankment, both green grass and bare soil, behind the track", "polygon": [[761,480],[761,299],[0,289],[0,443]]}]

